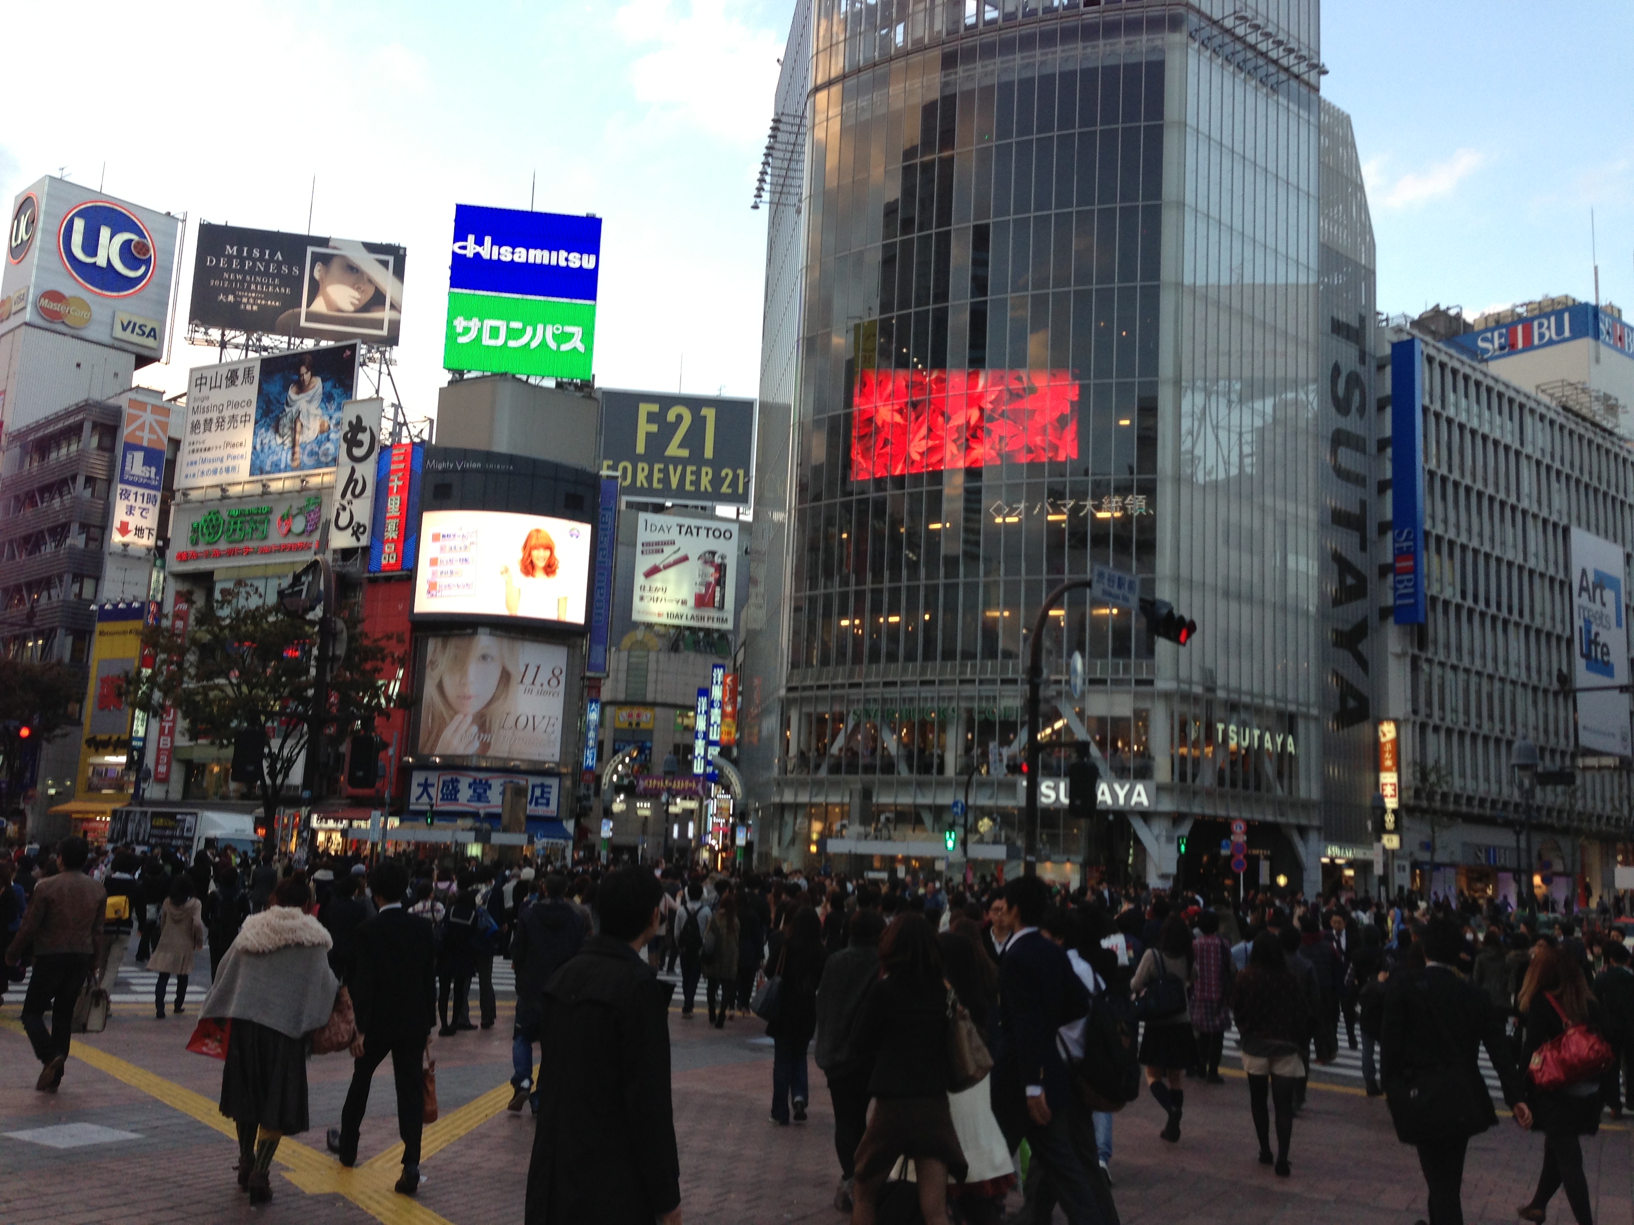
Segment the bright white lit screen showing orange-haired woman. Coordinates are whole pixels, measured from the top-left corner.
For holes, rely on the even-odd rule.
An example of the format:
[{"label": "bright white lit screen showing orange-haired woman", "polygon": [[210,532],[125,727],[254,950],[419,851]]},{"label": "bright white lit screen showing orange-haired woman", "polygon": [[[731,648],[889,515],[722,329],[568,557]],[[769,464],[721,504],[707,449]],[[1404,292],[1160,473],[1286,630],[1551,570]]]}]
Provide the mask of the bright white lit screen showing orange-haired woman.
[{"label": "bright white lit screen showing orange-haired woman", "polygon": [[585,624],[592,524],[505,511],[425,511],[415,616]]}]

